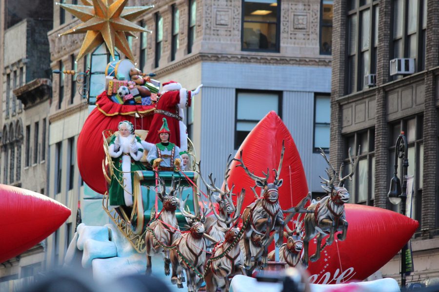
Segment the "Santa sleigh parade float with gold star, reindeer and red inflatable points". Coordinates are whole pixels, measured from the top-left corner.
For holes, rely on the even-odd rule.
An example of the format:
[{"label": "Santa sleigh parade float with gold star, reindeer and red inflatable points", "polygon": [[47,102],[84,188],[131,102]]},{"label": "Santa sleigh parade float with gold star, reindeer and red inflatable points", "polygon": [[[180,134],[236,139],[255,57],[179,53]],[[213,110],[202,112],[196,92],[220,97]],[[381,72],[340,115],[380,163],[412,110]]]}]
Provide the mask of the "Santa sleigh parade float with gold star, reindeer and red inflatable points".
[{"label": "Santa sleigh parade float with gold star, reindeer and red inflatable points", "polygon": [[[84,22],[64,33],[86,33],[78,58],[105,42],[111,55],[117,47],[127,59],[106,64],[105,90],[78,138],[81,177],[103,195],[112,224],[80,224],[66,265],[79,259],[98,281],[152,273],[190,292],[246,291],[261,272],[281,278],[301,267],[308,275],[299,281],[324,284],[312,288],[324,291],[365,280],[413,235],[413,219],[348,203],[344,182],[358,155],[342,176],[343,165],[332,165],[321,151],[326,195],[312,201],[293,137],[275,112],[233,157],[218,158],[223,177],[201,174],[183,110],[202,85],[187,90],[152,79],[135,67],[126,42],[132,31],[145,31],[131,21],[150,7],[124,7],[126,0],[82,4],[60,4]],[[395,280],[384,282],[370,287],[395,288]]]}]

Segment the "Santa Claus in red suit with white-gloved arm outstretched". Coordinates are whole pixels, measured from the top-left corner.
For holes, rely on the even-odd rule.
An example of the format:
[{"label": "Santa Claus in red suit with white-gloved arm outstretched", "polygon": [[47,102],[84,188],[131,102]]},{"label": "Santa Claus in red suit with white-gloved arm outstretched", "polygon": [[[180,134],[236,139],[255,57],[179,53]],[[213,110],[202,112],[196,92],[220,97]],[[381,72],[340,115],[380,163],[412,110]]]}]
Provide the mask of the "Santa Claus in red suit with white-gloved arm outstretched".
[{"label": "Santa Claus in red suit with white-gloved arm outstretched", "polygon": [[202,86],[201,84],[196,90],[188,91],[181,88],[181,84],[175,81],[163,83],[163,91],[157,102],[157,109],[145,141],[152,144],[160,143],[157,132],[162,125],[163,118],[166,118],[168,127],[173,133],[169,142],[179,146],[181,151],[187,150],[186,125],[183,123],[184,109],[191,106],[192,97],[200,92]]}]

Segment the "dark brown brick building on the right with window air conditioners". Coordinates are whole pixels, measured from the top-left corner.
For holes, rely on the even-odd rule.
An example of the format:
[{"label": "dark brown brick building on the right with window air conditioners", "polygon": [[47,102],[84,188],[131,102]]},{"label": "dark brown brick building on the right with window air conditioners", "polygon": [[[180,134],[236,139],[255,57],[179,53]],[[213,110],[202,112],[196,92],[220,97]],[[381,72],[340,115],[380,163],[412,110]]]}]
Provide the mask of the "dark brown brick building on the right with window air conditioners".
[{"label": "dark brown brick building on the right with window air conditioners", "polygon": [[[408,175],[414,176],[412,218],[419,221],[408,284],[439,276],[438,8],[431,0],[334,1],[331,162],[348,161],[349,147],[354,156],[361,145],[347,186],[351,202],[398,212],[387,193],[395,143],[405,132]],[[396,256],[381,273],[400,280],[399,266]]]}]

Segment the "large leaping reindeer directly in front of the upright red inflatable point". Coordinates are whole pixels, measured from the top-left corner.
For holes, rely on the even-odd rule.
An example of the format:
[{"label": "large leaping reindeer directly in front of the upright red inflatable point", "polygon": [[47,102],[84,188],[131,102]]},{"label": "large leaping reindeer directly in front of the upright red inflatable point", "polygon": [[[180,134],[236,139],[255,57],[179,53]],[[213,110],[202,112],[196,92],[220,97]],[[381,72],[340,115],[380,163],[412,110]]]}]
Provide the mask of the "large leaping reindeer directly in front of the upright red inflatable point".
[{"label": "large leaping reindeer directly in front of the upright red inflatable point", "polygon": [[[283,213],[279,204],[279,193],[278,188],[282,185],[283,180],[279,180],[280,169],[282,168],[283,153],[285,147],[282,142],[282,151],[280,154],[280,162],[278,170],[273,169],[275,172],[275,178],[273,183],[268,183],[269,171],[263,173],[265,177],[258,177],[254,173],[250,172],[248,168],[244,165],[242,161],[242,150],[239,153],[239,159],[234,159],[238,161],[236,167],[241,166],[247,175],[255,180],[256,186],[259,186],[261,190],[261,196],[259,197],[255,191],[255,187],[252,188],[257,200],[250,205],[248,205],[244,212],[242,213],[242,220],[248,224],[245,229],[243,237],[243,245],[245,249],[245,267],[251,270],[255,266],[255,263],[259,262],[259,255],[261,256],[261,265],[266,266],[267,263],[267,243],[269,239],[270,232],[277,230],[279,234],[279,239],[276,242],[276,246],[282,244],[282,232],[283,232]],[[263,249],[262,253],[258,251]]]}]

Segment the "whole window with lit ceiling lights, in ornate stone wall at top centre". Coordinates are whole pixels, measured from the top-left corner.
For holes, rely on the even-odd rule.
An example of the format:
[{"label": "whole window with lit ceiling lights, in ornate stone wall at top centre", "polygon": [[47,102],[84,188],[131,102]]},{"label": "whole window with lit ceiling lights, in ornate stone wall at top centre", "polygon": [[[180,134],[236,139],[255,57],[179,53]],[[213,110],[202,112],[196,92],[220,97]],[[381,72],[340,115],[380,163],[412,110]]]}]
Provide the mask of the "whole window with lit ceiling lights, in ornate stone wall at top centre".
[{"label": "whole window with lit ceiling lights, in ornate stone wall at top centre", "polygon": [[242,7],[241,49],[279,52],[280,1],[244,0]]}]

